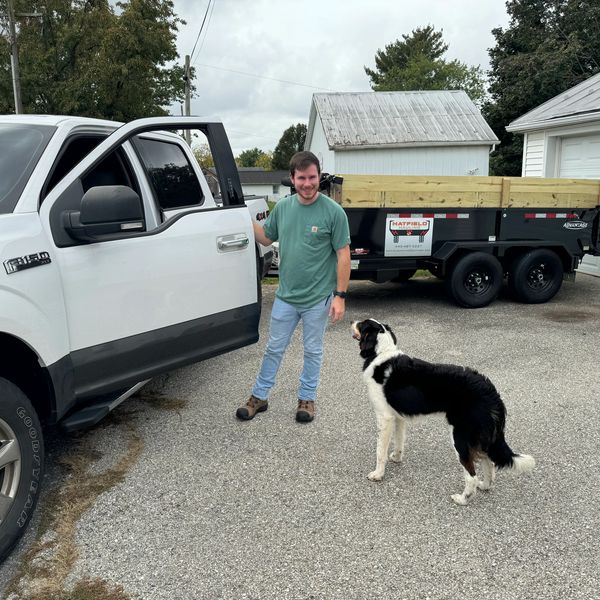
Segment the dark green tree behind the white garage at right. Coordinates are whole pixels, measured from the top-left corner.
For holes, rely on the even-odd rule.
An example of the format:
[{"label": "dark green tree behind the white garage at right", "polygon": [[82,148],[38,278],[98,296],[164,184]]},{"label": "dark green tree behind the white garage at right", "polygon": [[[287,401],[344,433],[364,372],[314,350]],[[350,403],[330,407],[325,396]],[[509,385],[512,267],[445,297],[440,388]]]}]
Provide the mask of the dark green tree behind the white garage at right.
[{"label": "dark green tree behind the white garage at right", "polygon": [[514,119],[600,71],[597,0],[509,0],[506,29],[493,29],[489,100],[483,113],[500,139],[493,175],[520,175],[523,138],[506,131]]}]

